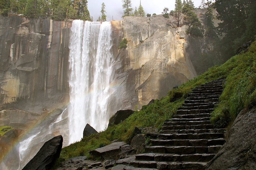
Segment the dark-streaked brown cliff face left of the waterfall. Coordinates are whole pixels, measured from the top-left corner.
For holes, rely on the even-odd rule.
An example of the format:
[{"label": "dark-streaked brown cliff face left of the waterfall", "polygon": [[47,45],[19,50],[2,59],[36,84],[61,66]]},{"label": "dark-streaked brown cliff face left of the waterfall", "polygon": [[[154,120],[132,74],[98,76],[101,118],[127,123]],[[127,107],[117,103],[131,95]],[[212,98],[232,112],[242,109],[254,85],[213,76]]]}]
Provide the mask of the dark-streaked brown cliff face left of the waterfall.
[{"label": "dark-streaked brown cliff face left of the waterfall", "polygon": [[15,103],[15,107],[29,111],[21,100],[36,103],[53,96],[63,100],[68,94],[71,23],[0,17],[0,108]]}]

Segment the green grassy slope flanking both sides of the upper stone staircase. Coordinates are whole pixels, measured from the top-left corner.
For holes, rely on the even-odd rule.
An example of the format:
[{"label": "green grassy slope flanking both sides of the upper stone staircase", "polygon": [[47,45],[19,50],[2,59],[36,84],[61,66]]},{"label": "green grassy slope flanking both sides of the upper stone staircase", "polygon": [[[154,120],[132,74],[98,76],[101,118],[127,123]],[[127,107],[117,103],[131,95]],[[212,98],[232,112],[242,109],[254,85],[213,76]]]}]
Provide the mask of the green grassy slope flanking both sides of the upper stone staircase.
[{"label": "green grassy slope flanking both sides of the upper stone staircase", "polygon": [[88,151],[108,145],[118,139],[129,143],[133,137],[134,127],[161,128],[166,119],[172,118],[178,107],[182,105],[191,88],[211,80],[227,76],[220,104],[215,108],[211,121],[216,126],[226,126],[243,109],[255,105],[256,101],[256,43],[249,51],[232,57],[223,65],[210,68],[204,74],[182,84],[178,89],[169,91],[168,96],[156,100],[150,106],[144,106],[135,111],[122,123],[112,126],[97,135],[91,135],[80,142],[65,147],[61,158],[69,159],[74,156],[87,155]]}]

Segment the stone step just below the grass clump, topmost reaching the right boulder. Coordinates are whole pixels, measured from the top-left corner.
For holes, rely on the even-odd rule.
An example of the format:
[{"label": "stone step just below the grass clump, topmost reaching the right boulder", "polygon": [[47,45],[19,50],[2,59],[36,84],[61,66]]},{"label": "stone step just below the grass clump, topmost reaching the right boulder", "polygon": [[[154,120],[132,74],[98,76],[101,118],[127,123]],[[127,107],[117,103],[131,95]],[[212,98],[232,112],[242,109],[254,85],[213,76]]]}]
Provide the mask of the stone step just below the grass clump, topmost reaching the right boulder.
[{"label": "stone step just below the grass clump, topmost reaching the right boulder", "polygon": [[161,134],[189,134],[189,133],[225,133],[225,129],[188,129],[188,130],[161,130]]}]

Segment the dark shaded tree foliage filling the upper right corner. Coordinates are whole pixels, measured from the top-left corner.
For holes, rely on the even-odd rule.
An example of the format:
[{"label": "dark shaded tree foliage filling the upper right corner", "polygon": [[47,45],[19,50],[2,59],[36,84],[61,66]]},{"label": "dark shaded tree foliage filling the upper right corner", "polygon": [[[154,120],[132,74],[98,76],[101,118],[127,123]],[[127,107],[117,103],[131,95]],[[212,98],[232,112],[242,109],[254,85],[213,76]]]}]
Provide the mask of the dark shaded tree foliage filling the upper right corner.
[{"label": "dark shaded tree foliage filling the upper right corner", "polygon": [[252,0],[216,0],[219,34],[223,40],[220,44],[222,54],[232,56],[242,43],[251,40],[256,34],[256,1]]}]

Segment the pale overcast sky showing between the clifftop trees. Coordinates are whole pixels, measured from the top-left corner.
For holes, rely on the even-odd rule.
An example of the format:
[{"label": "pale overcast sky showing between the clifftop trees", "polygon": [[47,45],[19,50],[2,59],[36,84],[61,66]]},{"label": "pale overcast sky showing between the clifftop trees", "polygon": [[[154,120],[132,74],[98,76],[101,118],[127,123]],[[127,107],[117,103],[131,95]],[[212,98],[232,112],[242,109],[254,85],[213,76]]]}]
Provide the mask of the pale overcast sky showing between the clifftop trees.
[{"label": "pale overcast sky showing between the clifftop trees", "polygon": [[[131,0],[133,9],[135,6],[138,8],[140,5],[140,0]],[[195,7],[200,5],[201,0],[192,0]],[[122,0],[88,0],[88,9],[93,20],[96,21],[100,16],[101,4],[106,5],[106,15],[107,21],[112,21],[112,16],[114,20],[122,20],[123,8]],[[145,13],[149,14],[161,14],[164,7],[169,8],[169,10],[174,10],[175,0],[141,0],[141,5],[143,6]]]}]

